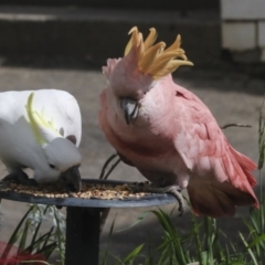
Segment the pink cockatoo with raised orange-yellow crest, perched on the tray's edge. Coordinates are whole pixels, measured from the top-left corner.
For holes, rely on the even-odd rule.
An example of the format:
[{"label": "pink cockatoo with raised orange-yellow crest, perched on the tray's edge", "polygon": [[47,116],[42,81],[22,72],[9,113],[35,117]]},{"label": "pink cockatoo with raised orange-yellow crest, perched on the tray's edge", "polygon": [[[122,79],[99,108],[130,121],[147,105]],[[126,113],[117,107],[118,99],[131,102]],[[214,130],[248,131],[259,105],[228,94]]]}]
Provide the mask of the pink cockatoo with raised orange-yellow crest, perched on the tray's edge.
[{"label": "pink cockatoo with raised orange-yellow crest, perched on the tray's edge", "polygon": [[229,144],[209,108],[177,85],[171,73],[192,65],[180,49],[144,41],[135,26],[123,59],[109,59],[100,94],[99,126],[121,160],[156,187],[188,189],[195,214],[233,215],[236,205],[258,208],[256,165]]}]

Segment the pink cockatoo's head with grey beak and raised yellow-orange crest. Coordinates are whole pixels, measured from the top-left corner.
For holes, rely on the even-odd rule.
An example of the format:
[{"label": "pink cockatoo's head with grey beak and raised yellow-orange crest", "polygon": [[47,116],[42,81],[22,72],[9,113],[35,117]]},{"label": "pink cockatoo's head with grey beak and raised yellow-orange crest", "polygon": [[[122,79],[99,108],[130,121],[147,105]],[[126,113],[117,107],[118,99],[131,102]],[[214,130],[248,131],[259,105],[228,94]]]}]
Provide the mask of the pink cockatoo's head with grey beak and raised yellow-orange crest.
[{"label": "pink cockatoo's head with grey beak and raised yellow-orange crest", "polygon": [[144,41],[141,32],[134,26],[131,38],[123,59],[109,59],[103,73],[109,82],[109,88],[120,102],[127,124],[138,114],[138,102],[165,76],[181,65],[193,65],[188,61],[184,50],[180,49],[181,38],[177,36],[171,46],[166,43],[155,44],[156,29]]}]

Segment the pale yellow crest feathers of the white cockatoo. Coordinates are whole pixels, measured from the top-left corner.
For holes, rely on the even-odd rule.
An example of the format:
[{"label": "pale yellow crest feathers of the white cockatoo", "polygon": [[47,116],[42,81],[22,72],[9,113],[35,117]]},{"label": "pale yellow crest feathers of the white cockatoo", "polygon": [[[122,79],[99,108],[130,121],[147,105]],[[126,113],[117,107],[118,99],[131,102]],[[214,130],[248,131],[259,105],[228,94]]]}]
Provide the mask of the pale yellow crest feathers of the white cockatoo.
[{"label": "pale yellow crest feathers of the white cockatoo", "polygon": [[55,134],[57,137],[62,137],[60,135],[60,132],[56,130],[56,128],[54,127],[53,120],[47,121],[43,117],[44,116],[43,114],[40,114],[40,113],[33,110],[33,108],[32,108],[33,96],[34,96],[34,93],[31,93],[29,98],[28,98],[25,109],[26,109],[26,113],[28,113],[28,116],[29,116],[30,125],[31,125],[32,130],[35,135],[36,141],[40,145],[46,144],[46,140],[40,134],[41,128],[46,128],[49,130],[52,130],[53,134]]}]

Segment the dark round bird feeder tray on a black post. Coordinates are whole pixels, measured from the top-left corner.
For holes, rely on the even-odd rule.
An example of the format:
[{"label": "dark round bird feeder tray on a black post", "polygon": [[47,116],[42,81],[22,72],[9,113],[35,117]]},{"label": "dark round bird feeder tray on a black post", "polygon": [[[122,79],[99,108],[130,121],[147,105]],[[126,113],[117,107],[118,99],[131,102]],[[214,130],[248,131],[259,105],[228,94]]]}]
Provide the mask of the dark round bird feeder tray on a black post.
[{"label": "dark round bird feeder tray on a black post", "polygon": [[[132,184],[132,182],[98,179],[84,179],[82,182],[83,184],[112,187]],[[87,199],[78,197],[47,198],[4,191],[4,189],[0,189],[0,199],[67,208],[65,265],[99,264],[99,225],[100,213],[104,209],[158,206],[177,202],[173,195],[167,193],[146,193],[140,197],[136,194],[123,199]]]}]

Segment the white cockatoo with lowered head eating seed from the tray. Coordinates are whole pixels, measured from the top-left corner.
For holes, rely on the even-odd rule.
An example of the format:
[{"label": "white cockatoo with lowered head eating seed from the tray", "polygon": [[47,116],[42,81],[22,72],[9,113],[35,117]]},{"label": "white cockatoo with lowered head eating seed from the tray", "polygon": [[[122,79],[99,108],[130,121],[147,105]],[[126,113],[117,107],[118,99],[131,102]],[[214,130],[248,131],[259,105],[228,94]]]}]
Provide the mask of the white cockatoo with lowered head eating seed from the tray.
[{"label": "white cockatoo with lowered head eating seed from the tray", "polygon": [[81,134],[80,107],[67,92],[0,93],[0,159],[9,171],[6,180],[32,182],[23,172],[30,168],[38,183],[62,178],[80,191]]}]

